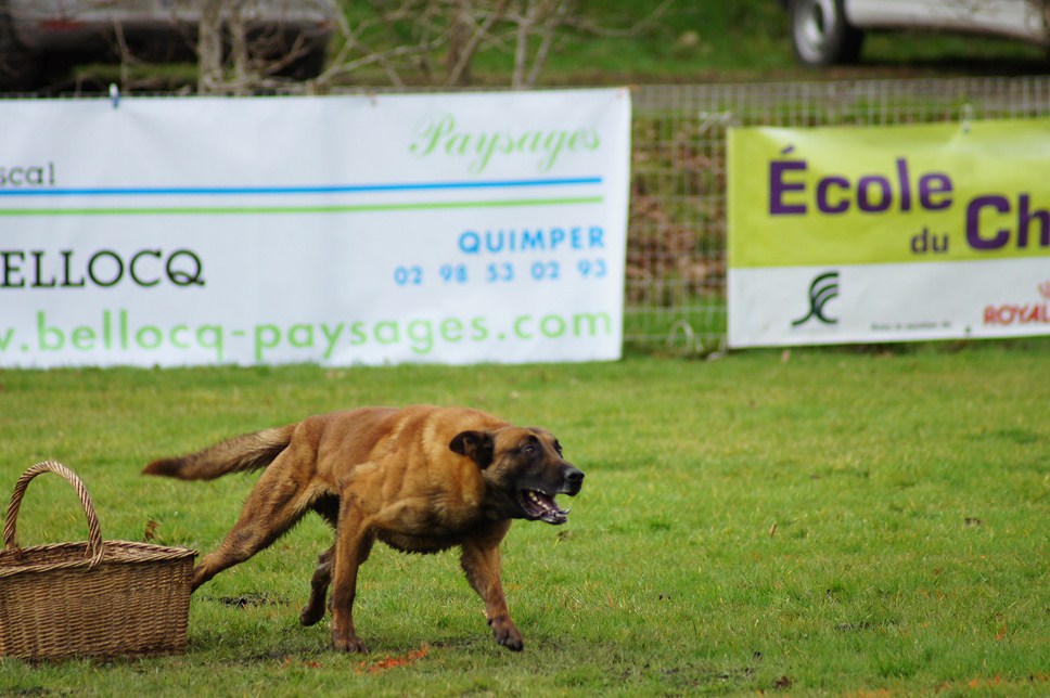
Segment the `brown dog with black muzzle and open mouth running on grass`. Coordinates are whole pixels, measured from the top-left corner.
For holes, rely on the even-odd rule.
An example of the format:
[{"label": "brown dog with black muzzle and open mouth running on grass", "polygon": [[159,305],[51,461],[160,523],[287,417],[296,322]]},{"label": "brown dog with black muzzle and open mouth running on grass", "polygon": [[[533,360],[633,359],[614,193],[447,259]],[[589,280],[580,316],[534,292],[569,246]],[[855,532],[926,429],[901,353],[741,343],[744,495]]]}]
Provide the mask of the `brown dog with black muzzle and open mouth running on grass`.
[{"label": "brown dog with black muzzle and open mouth running on grass", "polygon": [[309,417],[155,461],[149,475],[210,480],[266,468],[236,525],[193,570],[193,589],[267,547],[307,512],[335,528],[318,564],[300,620],[324,616],[332,590],[332,643],[366,651],[354,631],[357,569],[375,539],[410,553],[454,545],[471,586],[485,602],[496,641],[521,650],[500,581],[499,544],[515,518],[564,524],[554,495],[579,492],[584,474],[558,440],[462,408],[362,408]]}]

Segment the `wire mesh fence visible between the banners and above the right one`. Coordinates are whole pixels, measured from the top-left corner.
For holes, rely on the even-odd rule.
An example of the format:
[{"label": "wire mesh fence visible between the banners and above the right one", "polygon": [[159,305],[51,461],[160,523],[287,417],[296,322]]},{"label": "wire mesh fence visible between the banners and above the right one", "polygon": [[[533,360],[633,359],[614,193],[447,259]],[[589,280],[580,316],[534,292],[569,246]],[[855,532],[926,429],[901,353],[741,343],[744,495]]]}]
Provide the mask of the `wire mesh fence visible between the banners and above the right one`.
[{"label": "wire mesh fence visible between the banners and above the right one", "polygon": [[1050,115],[1050,77],[648,86],[633,91],[628,345],[726,340],[726,133]]}]

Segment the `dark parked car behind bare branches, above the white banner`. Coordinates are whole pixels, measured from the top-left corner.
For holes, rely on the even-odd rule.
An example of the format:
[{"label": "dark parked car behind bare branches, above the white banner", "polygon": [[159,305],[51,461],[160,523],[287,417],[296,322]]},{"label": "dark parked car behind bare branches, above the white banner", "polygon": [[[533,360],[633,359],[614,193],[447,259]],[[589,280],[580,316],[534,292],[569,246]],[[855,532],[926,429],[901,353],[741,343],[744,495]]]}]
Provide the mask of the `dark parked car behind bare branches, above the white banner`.
[{"label": "dark parked car behind bare branches, above the white banner", "polygon": [[[188,61],[195,56],[202,0],[0,0],[0,89],[30,90],[56,63],[125,56]],[[253,55],[274,73],[317,76],[332,34],[323,0],[240,0]]]}]

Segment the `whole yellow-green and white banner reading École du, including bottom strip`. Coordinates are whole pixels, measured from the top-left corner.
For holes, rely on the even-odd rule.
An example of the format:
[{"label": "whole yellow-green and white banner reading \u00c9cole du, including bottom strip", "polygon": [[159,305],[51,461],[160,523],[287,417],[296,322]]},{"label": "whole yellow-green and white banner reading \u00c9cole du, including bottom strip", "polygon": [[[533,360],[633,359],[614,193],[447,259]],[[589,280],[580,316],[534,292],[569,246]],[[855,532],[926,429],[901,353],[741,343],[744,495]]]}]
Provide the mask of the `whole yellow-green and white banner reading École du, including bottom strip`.
[{"label": "whole yellow-green and white banner reading \u00c9cole du, including bottom strip", "polygon": [[729,345],[1050,334],[1050,119],[729,135]]}]

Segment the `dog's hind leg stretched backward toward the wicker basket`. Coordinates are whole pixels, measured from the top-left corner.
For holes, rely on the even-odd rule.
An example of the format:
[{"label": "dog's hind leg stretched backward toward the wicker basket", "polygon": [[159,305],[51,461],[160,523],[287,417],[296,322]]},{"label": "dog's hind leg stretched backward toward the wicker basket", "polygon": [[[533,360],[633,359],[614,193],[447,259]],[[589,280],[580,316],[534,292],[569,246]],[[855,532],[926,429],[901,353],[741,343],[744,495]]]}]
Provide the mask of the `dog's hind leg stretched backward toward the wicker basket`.
[{"label": "dog's hind leg stretched backward toward the wicker basket", "polygon": [[238,522],[219,546],[193,568],[194,590],[268,547],[303,518],[317,499],[309,487],[309,475],[296,473],[294,462],[282,463],[285,455],[286,452],[262,473],[244,502]]}]

